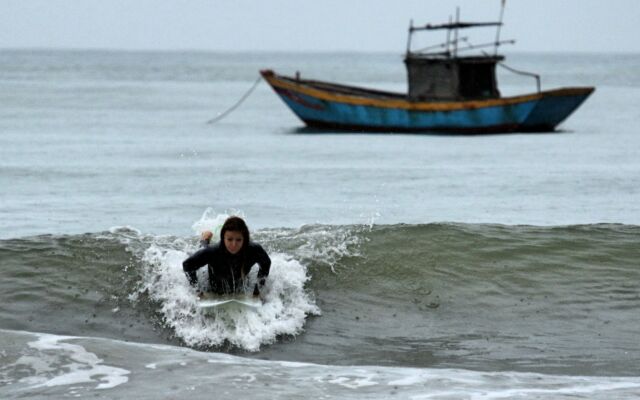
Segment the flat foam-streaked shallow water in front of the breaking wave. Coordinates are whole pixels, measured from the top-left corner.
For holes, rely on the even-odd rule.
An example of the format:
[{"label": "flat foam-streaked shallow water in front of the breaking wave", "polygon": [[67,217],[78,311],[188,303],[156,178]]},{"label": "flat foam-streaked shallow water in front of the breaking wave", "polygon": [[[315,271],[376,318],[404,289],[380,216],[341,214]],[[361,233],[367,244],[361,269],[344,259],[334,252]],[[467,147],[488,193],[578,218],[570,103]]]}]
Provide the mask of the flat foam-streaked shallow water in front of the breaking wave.
[{"label": "flat foam-streaked shallow water in front of the breaking wave", "polygon": [[[218,393],[296,398],[316,393],[322,397],[388,398],[443,396],[475,398],[554,398],[588,396],[590,399],[633,398],[640,380],[631,377],[562,376],[513,372],[476,372],[458,369],[413,369],[380,366],[336,367],[308,363],[247,360],[222,354],[158,345],[140,345],[104,339],[59,337],[31,332],[0,331],[13,338],[10,352],[36,355],[53,368],[29,377],[0,372],[0,393],[29,398],[68,396],[112,398],[172,396],[208,398]],[[35,340],[34,340],[35,339]],[[30,340],[30,341],[29,341]],[[20,350],[24,346],[28,350]],[[124,353],[128,357],[123,357]],[[100,358],[98,358],[98,356]],[[33,356],[32,356],[33,357]],[[14,364],[29,368],[23,357]],[[208,373],[202,375],[201,371]],[[162,376],[161,379],[158,379]]]}]

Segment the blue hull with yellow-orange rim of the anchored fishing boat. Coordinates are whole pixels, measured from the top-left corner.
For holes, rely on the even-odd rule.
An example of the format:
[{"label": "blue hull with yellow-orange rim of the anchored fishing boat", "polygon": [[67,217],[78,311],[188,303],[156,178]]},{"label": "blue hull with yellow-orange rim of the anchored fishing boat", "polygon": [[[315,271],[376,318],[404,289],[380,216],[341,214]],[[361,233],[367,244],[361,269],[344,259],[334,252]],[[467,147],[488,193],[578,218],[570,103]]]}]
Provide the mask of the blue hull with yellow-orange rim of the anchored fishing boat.
[{"label": "blue hull with yellow-orange rim of the anchored fishing boat", "polygon": [[553,131],[593,92],[564,88],[524,96],[459,102],[411,102],[405,96],[262,71],[308,126],[374,132]]}]

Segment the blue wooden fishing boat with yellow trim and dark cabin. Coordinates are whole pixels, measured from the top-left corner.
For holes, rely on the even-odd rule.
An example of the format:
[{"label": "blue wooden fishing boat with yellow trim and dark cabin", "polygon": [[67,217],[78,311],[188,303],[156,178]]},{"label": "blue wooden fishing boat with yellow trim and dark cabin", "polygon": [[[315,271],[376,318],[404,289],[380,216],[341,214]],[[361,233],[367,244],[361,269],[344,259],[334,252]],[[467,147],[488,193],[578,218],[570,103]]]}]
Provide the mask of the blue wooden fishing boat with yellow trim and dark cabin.
[{"label": "blue wooden fishing boat with yellow trim and dark cabin", "polygon": [[[540,89],[540,77],[504,64],[498,47],[498,22],[462,22],[409,26],[404,62],[408,93],[394,93],[260,71],[284,103],[311,128],[361,132],[507,133],[550,132],[574,112],[593,87]],[[495,27],[495,41],[473,45],[461,30]],[[446,31],[446,41],[412,50],[418,32]],[[492,53],[483,48],[493,47]],[[478,54],[479,53],[479,54]],[[469,55],[467,55],[469,54]],[[502,97],[496,66],[536,79],[537,91]]]}]

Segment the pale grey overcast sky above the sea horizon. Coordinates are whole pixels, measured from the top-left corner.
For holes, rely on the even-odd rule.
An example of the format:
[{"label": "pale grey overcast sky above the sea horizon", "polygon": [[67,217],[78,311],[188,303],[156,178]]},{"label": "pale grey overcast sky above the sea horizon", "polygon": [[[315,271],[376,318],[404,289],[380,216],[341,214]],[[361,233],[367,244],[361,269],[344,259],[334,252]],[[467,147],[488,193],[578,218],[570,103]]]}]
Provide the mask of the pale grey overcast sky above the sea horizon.
[{"label": "pale grey overcast sky above the sea horizon", "polygon": [[[0,48],[402,52],[456,5],[493,21],[500,0],[0,0]],[[640,53],[640,0],[507,0],[504,22],[510,51]]]}]

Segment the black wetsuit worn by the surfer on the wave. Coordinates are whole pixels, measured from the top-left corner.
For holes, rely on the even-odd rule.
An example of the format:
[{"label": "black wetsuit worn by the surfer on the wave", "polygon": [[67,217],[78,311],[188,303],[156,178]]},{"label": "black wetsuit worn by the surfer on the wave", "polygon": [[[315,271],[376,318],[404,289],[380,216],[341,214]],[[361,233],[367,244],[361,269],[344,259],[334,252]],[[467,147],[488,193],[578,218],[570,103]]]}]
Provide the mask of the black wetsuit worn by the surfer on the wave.
[{"label": "black wetsuit worn by the surfer on the wave", "polygon": [[[218,294],[237,293],[244,290],[249,271],[256,263],[260,266],[258,270],[260,285],[264,284],[264,278],[269,275],[271,259],[258,243],[250,242],[238,254],[229,253],[221,243],[210,247],[206,247],[208,243],[205,241],[202,241],[202,244],[205,248],[198,250],[182,263],[189,283],[193,286],[198,284],[196,271],[205,264],[209,264],[210,290]],[[257,285],[255,291],[257,291]]]}]

